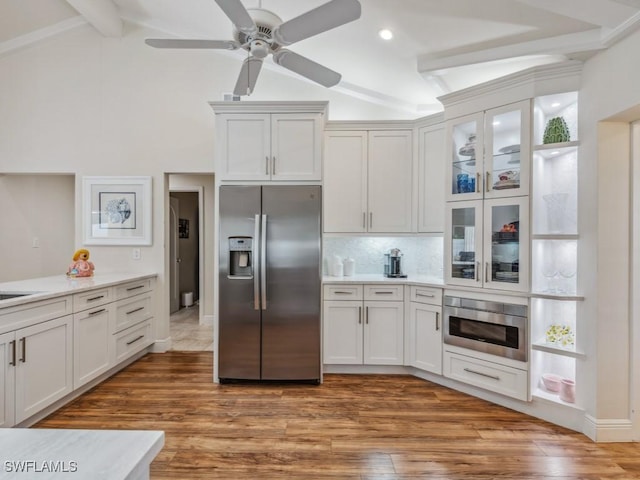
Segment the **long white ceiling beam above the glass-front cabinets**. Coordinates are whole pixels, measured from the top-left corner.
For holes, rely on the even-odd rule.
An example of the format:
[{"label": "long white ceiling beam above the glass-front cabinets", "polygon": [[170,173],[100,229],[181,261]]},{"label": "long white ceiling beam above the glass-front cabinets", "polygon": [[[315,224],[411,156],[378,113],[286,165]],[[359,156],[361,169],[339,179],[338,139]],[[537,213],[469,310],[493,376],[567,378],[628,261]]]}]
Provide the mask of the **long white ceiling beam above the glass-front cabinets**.
[{"label": "long white ceiling beam above the glass-front cabinets", "polygon": [[530,42],[515,43],[503,47],[476,50],[458,55],[436,58],[431,55],[418,57],[418,72],[421,74],[444,74],[449,68],[478,63],[505,60],[529,55],[571,55],[604,49],[599,28],[586,32],[571,33]]}]

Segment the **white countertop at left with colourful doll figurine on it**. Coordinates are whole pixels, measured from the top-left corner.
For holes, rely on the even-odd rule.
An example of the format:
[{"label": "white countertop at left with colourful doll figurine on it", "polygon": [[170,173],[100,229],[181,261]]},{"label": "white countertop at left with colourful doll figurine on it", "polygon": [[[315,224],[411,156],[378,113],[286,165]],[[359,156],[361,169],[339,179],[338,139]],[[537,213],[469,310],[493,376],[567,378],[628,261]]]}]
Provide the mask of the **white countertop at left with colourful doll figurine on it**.
[{"label": "white countertop at left with colourful doll figurine on it", "polygon": [[33,295],[0,300],[0,308],[12,307],[36,300],[44,300],[60,295],[78,293],[93,288],[108,287],[122,282],[136,281],[155,276],[155,273],[114,272],[96,273],[93,277],[72,278],[61,274],[52,277],[4,282],[0,283],[0,294],[33,293]]}]

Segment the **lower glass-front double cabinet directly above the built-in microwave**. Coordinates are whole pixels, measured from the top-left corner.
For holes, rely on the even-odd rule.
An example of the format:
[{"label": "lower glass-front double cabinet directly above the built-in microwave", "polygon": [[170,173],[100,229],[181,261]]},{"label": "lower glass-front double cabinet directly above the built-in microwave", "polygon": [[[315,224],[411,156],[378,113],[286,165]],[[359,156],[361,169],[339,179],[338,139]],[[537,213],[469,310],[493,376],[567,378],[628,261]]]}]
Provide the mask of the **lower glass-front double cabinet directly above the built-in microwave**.
[{"label": "lower glass-front double cabinet directly above the built-in microwave", "polygon": [[527,197],[447,203],[446,281],[451,285],[527,291]]}]

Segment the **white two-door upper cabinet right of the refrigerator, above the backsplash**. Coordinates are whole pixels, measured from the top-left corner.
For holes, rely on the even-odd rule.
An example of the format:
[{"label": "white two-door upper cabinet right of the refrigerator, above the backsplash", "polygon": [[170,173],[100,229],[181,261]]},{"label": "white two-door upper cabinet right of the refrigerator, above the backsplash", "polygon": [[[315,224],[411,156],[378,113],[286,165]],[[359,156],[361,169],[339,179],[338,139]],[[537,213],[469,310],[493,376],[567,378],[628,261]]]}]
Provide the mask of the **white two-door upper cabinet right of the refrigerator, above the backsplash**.
[{"label": "white two-door upper cabinet right of the refrigerator, above the backsplash", "polygon": [[328,131],[324,231],[411,232],[411,130]]}]

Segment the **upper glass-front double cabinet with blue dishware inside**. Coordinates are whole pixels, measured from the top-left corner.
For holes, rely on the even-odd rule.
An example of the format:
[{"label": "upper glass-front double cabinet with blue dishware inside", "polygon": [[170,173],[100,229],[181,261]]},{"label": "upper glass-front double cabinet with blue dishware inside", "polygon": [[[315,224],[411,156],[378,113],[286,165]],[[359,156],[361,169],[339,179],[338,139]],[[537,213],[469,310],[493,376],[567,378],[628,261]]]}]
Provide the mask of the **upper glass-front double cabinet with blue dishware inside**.
[{"label": "upper glass-front double cabinet with blue dishware inside", "polygon": [[527,195],[530,131],[528,100],[449,121],[447,200]]}]

